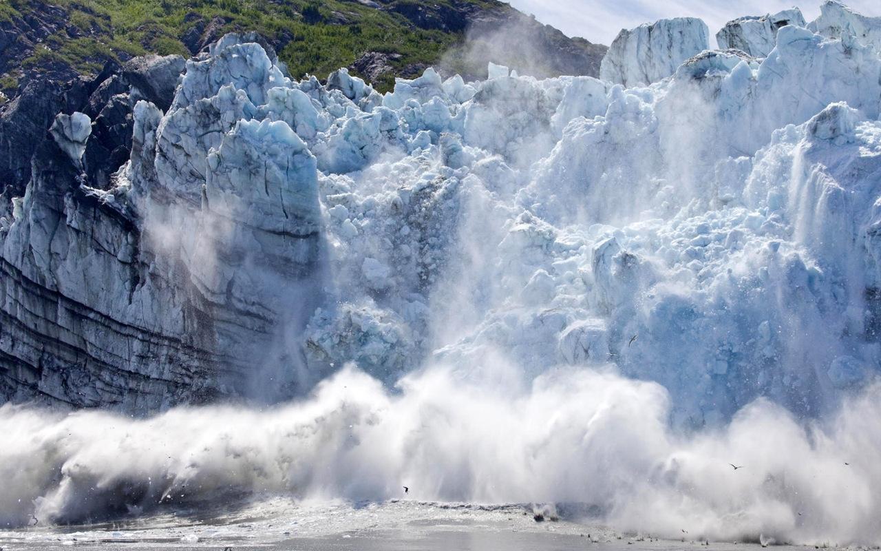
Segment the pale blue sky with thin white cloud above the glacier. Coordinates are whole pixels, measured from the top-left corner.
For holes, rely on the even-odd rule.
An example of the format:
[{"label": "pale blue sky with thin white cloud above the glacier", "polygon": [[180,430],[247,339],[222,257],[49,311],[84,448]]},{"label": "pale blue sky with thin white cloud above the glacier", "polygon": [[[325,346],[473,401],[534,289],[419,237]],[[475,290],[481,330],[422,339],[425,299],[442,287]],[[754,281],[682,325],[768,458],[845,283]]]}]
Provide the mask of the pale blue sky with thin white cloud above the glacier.
[{"label": "pale blue sky with thin white cloud above the glacier", "polygon": [[[552,25],[569,36],[581,36],[591,42],[611,44],[622,28],[673,17],[699,17],[714,37],[731,19],[744,15],[764,15],[791,8],[793,0],[508,0],[520,11]],[[804,19],[811,21],[820,13],[823,0],[795,4]],[[863,15],[881,16],[881,0],[845,0]],[[711,38],[714,45],[714,38]]]}]

